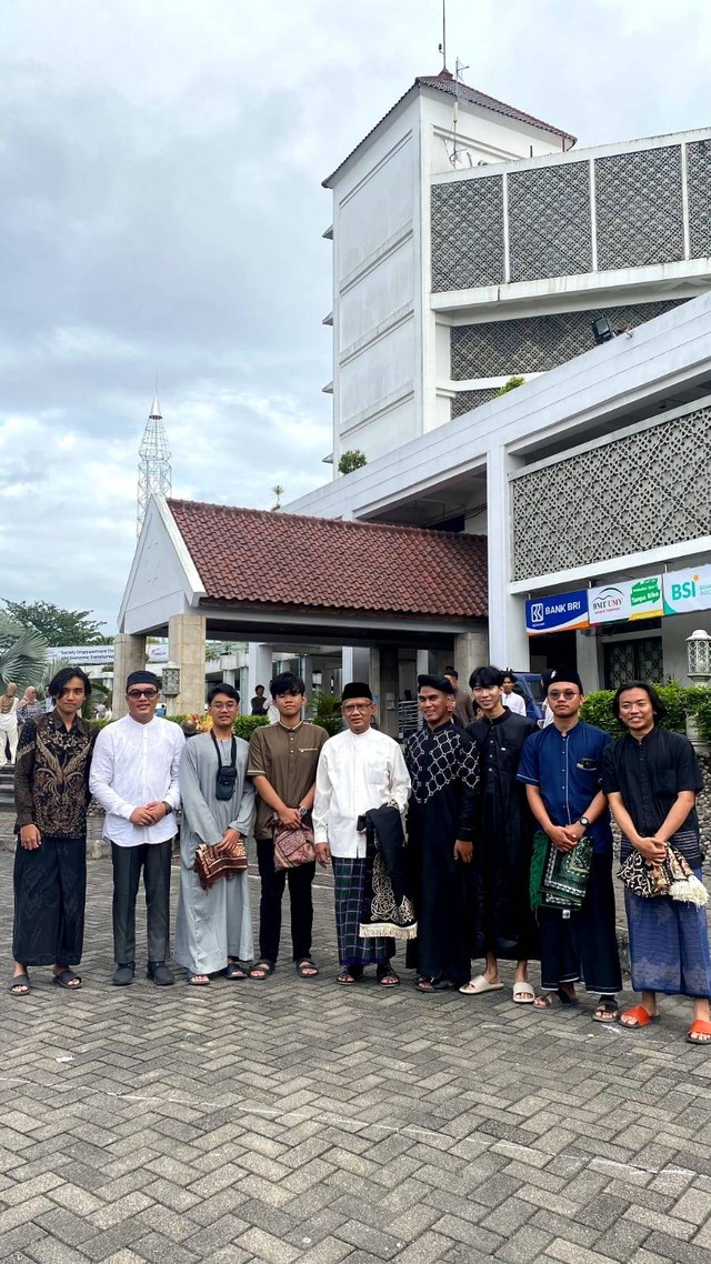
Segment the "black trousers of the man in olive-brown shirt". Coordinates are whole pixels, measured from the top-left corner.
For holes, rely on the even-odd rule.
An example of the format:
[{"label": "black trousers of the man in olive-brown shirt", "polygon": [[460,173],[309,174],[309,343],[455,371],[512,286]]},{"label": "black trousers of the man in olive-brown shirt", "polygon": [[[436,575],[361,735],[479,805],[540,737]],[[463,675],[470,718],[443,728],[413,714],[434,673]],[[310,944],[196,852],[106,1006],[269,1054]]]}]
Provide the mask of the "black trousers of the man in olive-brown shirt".
[{"label": "black trousers of the man in olive-brown shirt", "polygon": [[316,862],[297,865],[292,870],[275,870],[275,844],[271,838],[257,839],[257,863],[262,878],[262,897],[259,900],[259,956],[264,961],[276,961],[281,938],[281,901],[288,880],[288,899],[291,904],[291,944],[294,961],[311,956],[311,930],[314,927],[314,904],[311,882],[316,872]]}]

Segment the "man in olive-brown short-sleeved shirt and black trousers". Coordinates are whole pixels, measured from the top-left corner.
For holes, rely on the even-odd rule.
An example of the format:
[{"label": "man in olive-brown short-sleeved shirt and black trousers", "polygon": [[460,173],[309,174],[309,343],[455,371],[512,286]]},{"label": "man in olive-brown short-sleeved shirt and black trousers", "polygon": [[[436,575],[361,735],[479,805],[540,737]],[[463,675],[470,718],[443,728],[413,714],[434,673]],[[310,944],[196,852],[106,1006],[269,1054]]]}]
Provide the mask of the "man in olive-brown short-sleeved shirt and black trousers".
[{"label": "man in olive-brown short-sleeved shirt and black trousers", "polygon": [[264,980],[273,973],[281,937],[281,901],[288,877],[296,972],[301,978],[312,978],[318,975],[311,961],[311,884],[316,862],[275,870],[272,822],[277,817],[282,825],[291,829],[302,822],[311,823],[316,763],[328,733],[319,724],[307,724],[301,719],[306,686],[300,676],[282,671],[271,681],[269,691],[278,710],[278,722],[254,729],[247,770],[258,795],[254,837],[262,880],[259,961],[249,971],[249,977]]}]

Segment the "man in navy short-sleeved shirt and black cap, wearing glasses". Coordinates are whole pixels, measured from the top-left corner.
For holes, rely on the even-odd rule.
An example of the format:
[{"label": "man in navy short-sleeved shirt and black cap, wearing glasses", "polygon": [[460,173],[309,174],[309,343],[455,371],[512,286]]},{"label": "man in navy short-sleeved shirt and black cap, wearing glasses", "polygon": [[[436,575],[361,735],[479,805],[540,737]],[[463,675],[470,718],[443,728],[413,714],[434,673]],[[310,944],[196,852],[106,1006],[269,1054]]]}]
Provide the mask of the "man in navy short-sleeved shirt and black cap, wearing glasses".
[{"label": "man in navy short-sleeved shirt and black cap, wearing glasses", "polygon": [[612,738],[578,719],[584,699],[574,669],[550,672],[547,700],[553,723],[525,742],[517,780],[524,782],[529,806],[554,847],[572,851],[587,834],[593,854],[582,908],[538,910],[544,995],[535,1005],[576,1005],[574,985],[583,980],[586,991],[600,994],[593,1019],[614,1023],[620,1016],[616,994],[622,978],[615,933],[612,832],[601,789],[603,752]]}]

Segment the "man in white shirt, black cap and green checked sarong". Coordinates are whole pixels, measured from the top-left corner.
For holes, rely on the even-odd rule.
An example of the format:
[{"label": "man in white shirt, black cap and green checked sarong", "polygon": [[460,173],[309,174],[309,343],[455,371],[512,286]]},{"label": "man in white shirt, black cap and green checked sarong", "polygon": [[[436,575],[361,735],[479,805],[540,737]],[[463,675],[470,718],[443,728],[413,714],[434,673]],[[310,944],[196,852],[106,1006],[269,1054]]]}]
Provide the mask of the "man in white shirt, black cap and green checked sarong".
[{"label": "man in white shirt, black cap and green checked sarong", "polygon": [[[335,928],[340,973],[337,983],[357,983],[366,966],[377,963],[378,982],[395,986],[392,939],[364,939],[359,933],[366,881],[363,820],[372,808],[396,804],[405,811],[410,777],[402,752],[391,737],[372,728],[374,715],[369,685],[353,681],[343,690],[340,710],[348,728],[329,738],[316,769],[314,841],[319,865],[333,861]],[[359,830],[358,824],[363,828]]]}]

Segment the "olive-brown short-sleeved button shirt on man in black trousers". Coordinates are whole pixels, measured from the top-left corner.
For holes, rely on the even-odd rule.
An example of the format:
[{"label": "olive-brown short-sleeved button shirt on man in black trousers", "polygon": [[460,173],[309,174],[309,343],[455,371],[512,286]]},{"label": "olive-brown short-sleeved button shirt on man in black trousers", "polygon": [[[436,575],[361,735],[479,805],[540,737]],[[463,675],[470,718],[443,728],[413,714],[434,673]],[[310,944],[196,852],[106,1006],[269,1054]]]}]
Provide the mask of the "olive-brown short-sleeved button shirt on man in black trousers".
[{"label": "olive-brown short-sleeved button shirt on man in black trousers", "polygon": [[[262,724],[249,739],[247,775],[266,777],[287,808],[297,808],[316,780],[316,765],[328,733],[320,724],[297,728]],[[273,809],[257,796],[256,838],[272,837]]]}]

